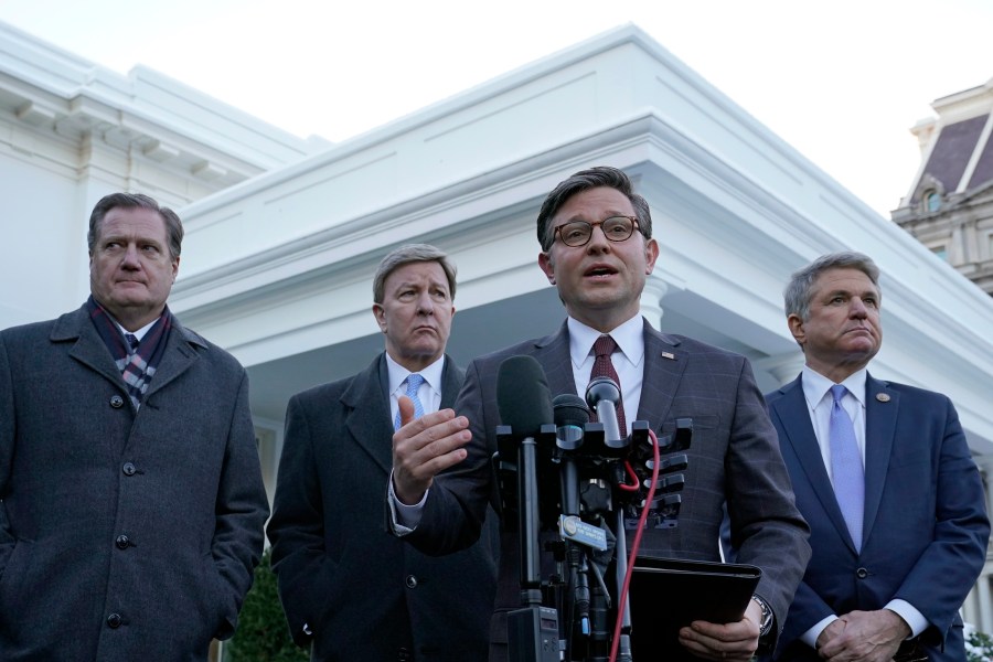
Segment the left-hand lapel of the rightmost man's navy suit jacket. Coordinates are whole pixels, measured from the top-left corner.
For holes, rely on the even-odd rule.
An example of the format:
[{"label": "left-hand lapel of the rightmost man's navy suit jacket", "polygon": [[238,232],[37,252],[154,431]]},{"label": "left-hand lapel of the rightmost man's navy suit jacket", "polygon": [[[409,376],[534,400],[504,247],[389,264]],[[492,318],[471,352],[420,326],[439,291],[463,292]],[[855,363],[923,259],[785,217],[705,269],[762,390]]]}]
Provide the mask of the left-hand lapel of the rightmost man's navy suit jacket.
[{"label": "left-hand lapel of the rightmost man's navy suit jacket", "polygon": [[821,447],[810,421],[810,410],[807,407],[807,398],[803,396],[801,378],[798,377],[779,392],[782,397],[771,403],[769,413],[773,423],[778,423],[776,427],[780,435],[780,444],[788,444],[793,450],[793,455],[796,455],[801,470],[807,474],[807,480],[828,514],[828,519],[831,520],[839,535],[854,553],[855,543],[852,541],[848,526],[837,505],[834,487],[828,477]]}]

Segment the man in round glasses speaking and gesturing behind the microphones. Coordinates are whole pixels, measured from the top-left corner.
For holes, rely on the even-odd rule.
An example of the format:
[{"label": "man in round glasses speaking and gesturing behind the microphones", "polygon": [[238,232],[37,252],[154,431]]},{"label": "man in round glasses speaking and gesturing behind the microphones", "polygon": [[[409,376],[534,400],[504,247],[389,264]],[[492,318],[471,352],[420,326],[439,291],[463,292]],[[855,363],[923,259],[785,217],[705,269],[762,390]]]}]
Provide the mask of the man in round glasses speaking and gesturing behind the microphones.
[{"label": "man in round glasses speaking and gesturing behind the microphones", "polygon": [[[553,394],[583,395],[591,378],[610,376],[621,391],[622,434],[647,420],[661,437],[676,418],[693,419],[679,526],[645,531],[640,554],[719,560],[726,501],[737,560],[760,567],[762,578],[740,621],[695,621],[680,631],[680,643],[704,659],[749,660],[760,643],[775,643],[810,546],[748,361],[660,333],[640,316],[659,245],[649,205],[622,171],[592,168],[560,182],[538,213],[537,237],[538,266],[568,318],[552,335],[473,361],[455,410],[413,420],[409,403],[402,403],[388,498],[394,531],[429,554],[462,548],[479,534],[488,503],[499,502],[490,457],[505,359],[533,356]],[[504,533],[501,541],[491,662],[508,659],[506,612],[520,607],[516,537]]]}]

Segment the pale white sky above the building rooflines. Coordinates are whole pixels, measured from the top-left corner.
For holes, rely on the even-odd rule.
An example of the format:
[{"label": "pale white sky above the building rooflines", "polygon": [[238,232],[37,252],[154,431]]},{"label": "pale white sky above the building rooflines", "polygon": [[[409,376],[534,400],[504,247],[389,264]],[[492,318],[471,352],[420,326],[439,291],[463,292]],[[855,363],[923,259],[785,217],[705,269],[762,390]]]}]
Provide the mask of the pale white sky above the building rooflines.
[{"label": "pale white sky above the building rooflines", "polygon": [[0,20],[332,141],[630,22],[887,218],[910,127],[993,78],[991,0],[0,0]]}]

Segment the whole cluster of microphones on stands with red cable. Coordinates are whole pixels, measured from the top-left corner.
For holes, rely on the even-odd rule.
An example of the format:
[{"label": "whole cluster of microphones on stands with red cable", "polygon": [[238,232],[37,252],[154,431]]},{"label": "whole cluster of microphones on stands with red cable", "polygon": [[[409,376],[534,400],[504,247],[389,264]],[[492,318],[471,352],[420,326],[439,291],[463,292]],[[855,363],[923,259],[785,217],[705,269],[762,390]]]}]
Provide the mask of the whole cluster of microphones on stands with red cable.
[{"label": "whole cluster of microphones on stands with red cable", "polygon": [[[620,397],[616,382],[597,377],[585,398],[565,393],[553,399],[532,356],[500,365],[493,466],[501,523],[517,532],[521,545],[522,608],[508,615],[515,660],[606,660],[611,596],[618,616],[612,644],[630,660],[626,531],[636,530],[633,556],[643,528],[676,525],[693,421],[679,419],[674,434],[656,439],[648,421],[636,420],[628,435],[618,425]],[[543,577],[542,555],[549,551],[557,569]],[[611,559],[613,594],[604,579]]]}]

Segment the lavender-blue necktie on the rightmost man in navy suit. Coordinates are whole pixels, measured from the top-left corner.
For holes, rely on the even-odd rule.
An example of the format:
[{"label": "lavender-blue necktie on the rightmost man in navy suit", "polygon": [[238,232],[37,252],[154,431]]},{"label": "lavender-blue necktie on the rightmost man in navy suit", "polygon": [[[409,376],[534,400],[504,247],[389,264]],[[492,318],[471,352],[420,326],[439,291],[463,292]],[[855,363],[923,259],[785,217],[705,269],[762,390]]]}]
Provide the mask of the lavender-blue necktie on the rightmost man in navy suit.
[{"label": "lavender-blue necktie on the rightmost man in navy suit", "polygon": [[841,401],[848,389],[841,384],[831,387],[834,405],[831,407],[831,476],[834,482],[834,498],[841,506],[848,533],[855,543],[855,551],[862,549],[862,520],[865,511],[865,471],[855,439],[855,426]]}]

